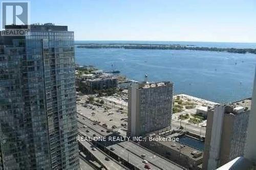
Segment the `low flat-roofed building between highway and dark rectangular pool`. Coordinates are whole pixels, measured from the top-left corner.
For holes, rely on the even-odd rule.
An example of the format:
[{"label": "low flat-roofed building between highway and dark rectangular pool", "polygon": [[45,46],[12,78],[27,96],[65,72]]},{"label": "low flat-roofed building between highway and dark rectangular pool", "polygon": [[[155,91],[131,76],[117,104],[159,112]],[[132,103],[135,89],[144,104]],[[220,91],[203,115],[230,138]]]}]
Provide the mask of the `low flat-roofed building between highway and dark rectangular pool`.
[{"label": "low flat-roofed building between highway and dark rectangular pool", "polygon": [[151,134],[145,137],[141,144],[183,167],[201,169],[203,151],[179,142],[179,137],[189,136],[175,131],[170,131],[169,135],[166,135],[166,133],[165,135],[163,133]]}]

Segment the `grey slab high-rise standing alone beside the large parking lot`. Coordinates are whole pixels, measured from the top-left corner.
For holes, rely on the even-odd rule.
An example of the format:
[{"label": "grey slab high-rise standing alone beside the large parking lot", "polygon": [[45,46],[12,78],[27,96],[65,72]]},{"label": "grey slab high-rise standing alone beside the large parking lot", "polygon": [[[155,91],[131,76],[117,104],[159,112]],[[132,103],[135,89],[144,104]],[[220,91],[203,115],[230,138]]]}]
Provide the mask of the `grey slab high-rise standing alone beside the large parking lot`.
[{"label": "grey slab high-rise standing alone beside the large parking lot", "polygon": [[127,136],[139,136],[170,126],[173,83],[136,83],[129,88]]}]

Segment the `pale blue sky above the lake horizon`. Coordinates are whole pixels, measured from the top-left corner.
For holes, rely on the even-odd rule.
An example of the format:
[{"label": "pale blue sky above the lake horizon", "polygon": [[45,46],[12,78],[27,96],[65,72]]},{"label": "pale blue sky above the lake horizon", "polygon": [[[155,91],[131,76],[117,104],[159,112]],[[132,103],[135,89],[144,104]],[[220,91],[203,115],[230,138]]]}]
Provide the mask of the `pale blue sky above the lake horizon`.
[{"label": "pale blue sky above the lake horizon", "polygon": [[33,0],[31,22],[75,40],[256,42],[256,0]]}]

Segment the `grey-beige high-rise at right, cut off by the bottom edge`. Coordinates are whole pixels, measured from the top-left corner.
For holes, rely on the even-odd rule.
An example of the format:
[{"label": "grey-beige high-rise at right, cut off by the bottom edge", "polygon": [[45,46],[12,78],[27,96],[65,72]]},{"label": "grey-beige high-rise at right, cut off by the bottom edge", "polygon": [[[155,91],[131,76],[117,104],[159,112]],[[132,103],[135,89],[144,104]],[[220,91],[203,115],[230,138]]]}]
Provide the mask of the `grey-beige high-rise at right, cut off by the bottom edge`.
[{"label": "grey-beige high-rise at right, cut off by the bottom edge", "polygon": [[216,169],[244,154],[250,103],[245,99],[208,109],[203,169]]}]

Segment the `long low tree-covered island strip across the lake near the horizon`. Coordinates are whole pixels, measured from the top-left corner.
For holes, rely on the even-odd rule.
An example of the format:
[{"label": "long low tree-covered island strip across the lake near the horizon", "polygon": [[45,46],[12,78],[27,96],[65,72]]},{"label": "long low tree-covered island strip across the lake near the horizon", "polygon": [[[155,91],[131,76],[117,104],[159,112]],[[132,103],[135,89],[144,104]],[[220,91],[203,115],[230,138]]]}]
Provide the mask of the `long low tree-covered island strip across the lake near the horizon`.
[{"label": "long low tree-covered island strip across the lake near the horizon", "polygon": [[239,54],[256,54],[256,48],[217,48],[217,47],[198,47],[194,45],[180,44],[78,44],[78,48],[124,48],[124,49],[145,49],[145,50],[196,50],[196,51],[214,51]]}]

